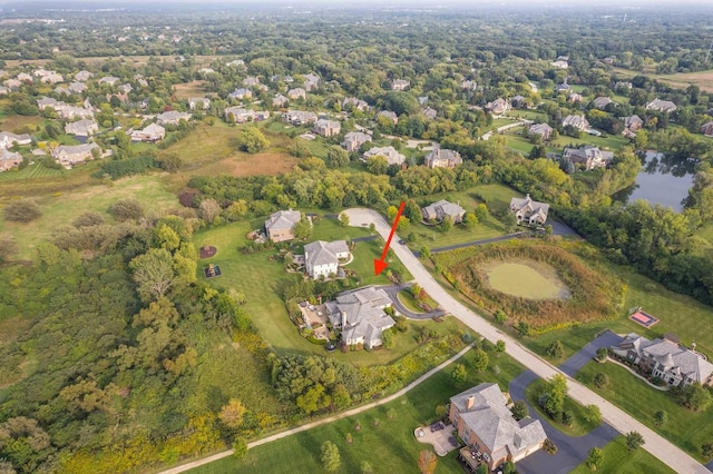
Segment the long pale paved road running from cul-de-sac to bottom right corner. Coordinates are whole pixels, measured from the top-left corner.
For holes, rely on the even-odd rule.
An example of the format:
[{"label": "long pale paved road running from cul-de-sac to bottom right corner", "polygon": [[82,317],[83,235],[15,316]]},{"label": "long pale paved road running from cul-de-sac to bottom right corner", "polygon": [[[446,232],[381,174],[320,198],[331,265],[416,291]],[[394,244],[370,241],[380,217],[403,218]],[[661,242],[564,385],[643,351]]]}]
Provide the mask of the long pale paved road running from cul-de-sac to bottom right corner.
[{"label": "long pale paved road running from cul-de-sac to bottom right corner", "polygon": [[[377,226],[377,230],[384,239],[388,238],[390,227],[387,221],[374,210],[371,209],[348,209],[349,221],[353,226],[369,226],[373,223]],[[399,237],[394,236],[398,240]],[[530,352],[526,347],[519,344],[518,340],[504,334],[497,327],[490,325],[484,318],[476,313],[463,306],[455,297],[452,297],[445,288],[442,288],[438,282],[428,273],[428,270],[421,265],[413,254],[404,246],[392,246],[397,256],[401,259],[403,265],[409,269],[413,278],[428,292],[428,294],[437,302],[441,307],[463,322],[470,328],[476,330],[488,340],[495,343],[498,339],[506,342],[506,350],[515,359],[519,361],[522,365],[528,367],[540,378],[550,378],[553,375],[561,373],[546,361],[541,359],[537,354]],[[567,377],[567,385],[569,387],[569,396],[580,403],[582,405],[595,404],[602,411],[603,419],[616,428],[619,433],[628,433],[636,431],[644,436],[646,443],[644,448],[668,465],[677,473],[705,473],[711,471],[705,468],[701,463],[691,457],[683,450],[675,446],[664,437],[656,434],[653,429],[648,428],[643,423],[638,422],[624,411],[614,406],[605,398],[595,394],[577,381],[572,377]]]}]

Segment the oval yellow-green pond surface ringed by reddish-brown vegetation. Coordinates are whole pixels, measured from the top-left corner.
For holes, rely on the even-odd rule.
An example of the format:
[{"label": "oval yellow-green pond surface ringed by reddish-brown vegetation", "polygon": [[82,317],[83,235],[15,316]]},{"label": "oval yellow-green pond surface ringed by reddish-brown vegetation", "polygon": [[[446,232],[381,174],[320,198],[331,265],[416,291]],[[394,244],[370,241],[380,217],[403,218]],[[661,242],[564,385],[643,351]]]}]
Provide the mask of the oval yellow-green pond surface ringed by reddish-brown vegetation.
[{"label": "oval yellow-green pond surface ringed by reddish-brown vegetation", "polygon": [[482,267],[488,285],[501,293],[527,299],[564,299],[569,293],[557,270],[535,260],[490,261]]}]

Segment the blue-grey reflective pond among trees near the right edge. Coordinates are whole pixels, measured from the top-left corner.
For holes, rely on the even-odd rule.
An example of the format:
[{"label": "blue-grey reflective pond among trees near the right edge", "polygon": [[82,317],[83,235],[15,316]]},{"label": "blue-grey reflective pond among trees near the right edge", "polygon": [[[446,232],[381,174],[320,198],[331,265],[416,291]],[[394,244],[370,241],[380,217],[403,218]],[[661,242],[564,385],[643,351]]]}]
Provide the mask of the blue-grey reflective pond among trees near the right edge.
[{"label": "blue-grey reflective pond among trees near the right edge", "polygon": [[693,186],[696,162],[693,159],[683,164],[672,162],[664,154],[646,151],[636,184],[613,197],[621,203],[644,199],[682,211],[688,189]]}]

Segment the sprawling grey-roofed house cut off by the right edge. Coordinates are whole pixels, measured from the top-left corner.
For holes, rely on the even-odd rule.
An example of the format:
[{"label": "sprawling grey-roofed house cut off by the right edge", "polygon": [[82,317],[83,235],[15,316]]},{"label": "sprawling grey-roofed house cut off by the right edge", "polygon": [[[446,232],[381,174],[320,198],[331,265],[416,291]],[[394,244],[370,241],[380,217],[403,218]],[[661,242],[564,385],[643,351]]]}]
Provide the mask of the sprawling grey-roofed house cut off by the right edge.
[{"label": "sprawling grey-roofed house cut off by the right edge", "polygon": [[678,344],[677,337],[665,334],[648,340],[636,333],[628,334],[623,342],[612,347],[612,352],[661,377],[671,386],[691,383],[713,385],[713,364],[693,348]]}]

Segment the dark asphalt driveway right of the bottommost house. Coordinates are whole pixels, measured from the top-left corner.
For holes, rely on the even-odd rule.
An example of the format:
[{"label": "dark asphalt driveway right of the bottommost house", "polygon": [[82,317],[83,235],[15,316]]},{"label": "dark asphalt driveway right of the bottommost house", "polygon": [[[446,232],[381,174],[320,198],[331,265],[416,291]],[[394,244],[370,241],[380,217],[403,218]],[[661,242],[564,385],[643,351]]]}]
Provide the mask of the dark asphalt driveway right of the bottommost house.
[{"label": "dark asphalt driveway right of the bottommost house", "polygon": [[[517,376],[508,387],[512,399],[525,399],[525,387],[537,379],[537,375],[531,371]],[[527,403],[527,401],[526,401]],[[539,419],[550,438],[557,446],[557,453],[551,455],[544,451],[538,451],[531,456],[526,457],[517,463],[517,472],[522,474],[565,474],[582,464],[586,458],[589,450],[594,446],[602,447],[618,435],[618,432],[606,423],[587,433],[585,436],[568,436],[549,424],[549,422],[540,416],[533,406],[527,403],[533,418]]]}]

